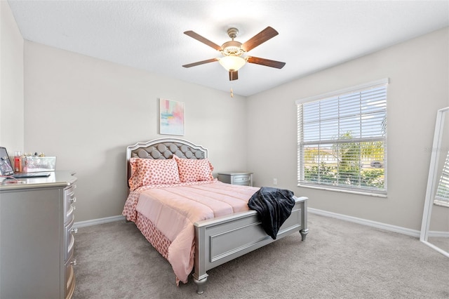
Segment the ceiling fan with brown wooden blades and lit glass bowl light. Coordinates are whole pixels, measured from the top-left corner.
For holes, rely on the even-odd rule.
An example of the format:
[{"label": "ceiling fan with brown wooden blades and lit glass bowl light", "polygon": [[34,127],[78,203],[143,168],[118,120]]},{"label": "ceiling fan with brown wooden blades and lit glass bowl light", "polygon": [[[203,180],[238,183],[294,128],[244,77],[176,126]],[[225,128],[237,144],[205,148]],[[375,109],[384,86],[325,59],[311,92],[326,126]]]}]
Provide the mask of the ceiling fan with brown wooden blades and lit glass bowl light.
[{"label": "ceiling fan with brown wooden blades and lit glass bowl light", "polygon": [[231,41],[225,42],[222,46],[218,46],[217,44],[209,41],[203,36],[193,32],[192,30],[184,32],[188,36],[196,39],[197,41],[201,41],[201,43],[206,44],[214,48],[217,51],[220,51],[223,55],[222,58],[211,58],[208,60],[202,60],[199,62],[190,63],[188,65],[182,65],[183,67],[195,67],[196,65],[203,65],[209,62],[220,62],[220,65],[225,67],[229,72],[229,81],[233,81],[239,79],[239,74],[237,71],[246,64],[246,62],[254,63],[256,65],[264,65],[267,67],[275,67],[276,69],[281,69],[286,62],[280,62],[276,60],[269,60],[265,58],[258,58],[254,56],[244,56],[248,51],[253,48],[259,46],[260,44],[272,39],[274,36],[279,33],[273,29],[272,27],[267,27],[263,29],[261,32],[257,33],[251,39],[246,41],[246,43],[241,43],[239,41],[234,41],[237,34],[239,34],[239,29],[234,27],[227,29],[227,35],[232,39]]}]

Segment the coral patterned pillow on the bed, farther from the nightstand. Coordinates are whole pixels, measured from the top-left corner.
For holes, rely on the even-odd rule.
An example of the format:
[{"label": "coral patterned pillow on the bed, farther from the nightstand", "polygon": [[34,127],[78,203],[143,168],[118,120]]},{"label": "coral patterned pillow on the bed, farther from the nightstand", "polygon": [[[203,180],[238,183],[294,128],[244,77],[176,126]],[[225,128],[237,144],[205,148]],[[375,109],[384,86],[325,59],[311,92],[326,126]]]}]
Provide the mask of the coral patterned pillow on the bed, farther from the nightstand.
[{"label": "coral patterned pillow on the bed, farther from the nightstand", "polygon": [[146,185],[170,185],[180,183],[177,163],[173,159],[130,159],[130,190]]}]

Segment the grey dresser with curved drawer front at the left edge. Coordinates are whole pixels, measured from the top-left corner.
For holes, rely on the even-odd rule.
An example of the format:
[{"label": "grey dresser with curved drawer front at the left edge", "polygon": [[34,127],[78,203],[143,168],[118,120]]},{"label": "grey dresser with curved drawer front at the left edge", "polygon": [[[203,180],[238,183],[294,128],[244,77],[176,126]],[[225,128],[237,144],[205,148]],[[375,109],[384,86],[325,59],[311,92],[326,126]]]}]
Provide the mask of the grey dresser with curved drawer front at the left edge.
[{"label": "grey dresser with curved drawer front at the left edge", "polygon": [[71,298],[76,178],[0,184],[0,298]]}]

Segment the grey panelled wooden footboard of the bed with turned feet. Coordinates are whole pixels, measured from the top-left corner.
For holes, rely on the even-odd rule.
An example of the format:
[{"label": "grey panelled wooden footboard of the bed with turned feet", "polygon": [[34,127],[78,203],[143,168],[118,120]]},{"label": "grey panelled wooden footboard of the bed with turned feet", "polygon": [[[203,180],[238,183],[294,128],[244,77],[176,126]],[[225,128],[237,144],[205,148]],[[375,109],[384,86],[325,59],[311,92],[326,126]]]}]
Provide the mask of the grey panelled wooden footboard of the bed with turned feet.
[{"label": "grey panelled wooden footboard of the bed with turned feet", "polygon": [[[307,229],[307,197],[295,197],[290,217],[281,226],[276,239],[300,231],[305,241]],[[197,293],[203,293],[207,270],[238,258],[273,241],[262,228],[256,211],[203,220],[194,223],[195,265],[194,282]]]}]

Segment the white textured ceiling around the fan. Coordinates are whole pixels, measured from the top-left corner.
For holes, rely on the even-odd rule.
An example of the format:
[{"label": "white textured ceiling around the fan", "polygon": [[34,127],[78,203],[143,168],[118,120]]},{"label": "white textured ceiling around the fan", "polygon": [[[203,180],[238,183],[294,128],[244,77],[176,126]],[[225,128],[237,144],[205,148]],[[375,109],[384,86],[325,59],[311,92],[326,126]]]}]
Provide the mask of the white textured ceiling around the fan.
[{"label": "white textured ceiling around the fan", "polygon": [[[26,40],[244,96],[449,26],[449,0],[8,3]],[[279,35],[249,53],[283,69],[247,64],[231,83],[218,62],[182,67],[221,55],[187,30],[221,45],[229,27],[243,43],[267,26]]]}]

